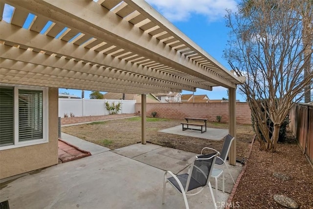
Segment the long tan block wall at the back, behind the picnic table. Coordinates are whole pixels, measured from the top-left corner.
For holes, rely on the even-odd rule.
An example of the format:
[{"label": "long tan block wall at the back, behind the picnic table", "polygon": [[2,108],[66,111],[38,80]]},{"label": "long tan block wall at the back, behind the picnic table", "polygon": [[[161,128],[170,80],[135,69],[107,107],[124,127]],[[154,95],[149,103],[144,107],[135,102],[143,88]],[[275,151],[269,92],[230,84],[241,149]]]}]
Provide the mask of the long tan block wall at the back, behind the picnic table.
[{"label": "long tan block wall at the back, behind the picnic table", "polygon": [[[141,104],[135,104],[136,113],[141,112]],[[217,121],[216,116],[222,116],[222,122],[228,123],[228,102],[224,103],[147,103],[147,116],[156,112],[156,117],[183,119],[185,117],[207,118]],[[251,124],[251,111],[246,102],[236,103],[236,121],[238,124]]]}]

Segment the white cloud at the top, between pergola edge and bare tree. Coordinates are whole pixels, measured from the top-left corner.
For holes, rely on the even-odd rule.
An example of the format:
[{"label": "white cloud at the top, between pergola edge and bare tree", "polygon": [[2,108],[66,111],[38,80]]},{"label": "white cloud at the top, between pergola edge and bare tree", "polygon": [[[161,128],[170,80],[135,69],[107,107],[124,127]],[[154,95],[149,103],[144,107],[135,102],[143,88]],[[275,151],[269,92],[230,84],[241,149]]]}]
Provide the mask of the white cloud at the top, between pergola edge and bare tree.
[{"label": "white cloud at the top, between pergola edge and bare tree", "polygon": [[224,18],[226,8],[236,10],[235,0],[146,0],[169,21],[188,21],[192,14],[213,22]]}]

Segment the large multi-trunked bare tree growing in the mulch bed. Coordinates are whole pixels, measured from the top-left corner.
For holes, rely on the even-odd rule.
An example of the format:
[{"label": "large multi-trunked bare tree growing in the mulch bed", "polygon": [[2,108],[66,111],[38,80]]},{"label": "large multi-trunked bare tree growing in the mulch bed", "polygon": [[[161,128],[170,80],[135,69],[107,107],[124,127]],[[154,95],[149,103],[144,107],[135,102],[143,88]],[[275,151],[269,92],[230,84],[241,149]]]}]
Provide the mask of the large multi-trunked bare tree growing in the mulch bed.
[{"label": "large multi-trunked bare tree growing in the mulch bed", "polygon": [[[291,9],[303,3],[304,0],[257,0],[257,9],[250,15],[231,11],[227,15],[231,32],[224,57],[238,76],[246,76],[246,83],[238,88],[246,94],[255,130],[261,131],[256,131],[261,147],[272,152],[293,101],[303,97],[303,89],[313,79],[312,71],[306,76],[303,73],[312,50],[308,53],[307,45],[301,41],[305,36],[302,16]],[[268,119],[274,124],[273,130],[268,127]]]}]

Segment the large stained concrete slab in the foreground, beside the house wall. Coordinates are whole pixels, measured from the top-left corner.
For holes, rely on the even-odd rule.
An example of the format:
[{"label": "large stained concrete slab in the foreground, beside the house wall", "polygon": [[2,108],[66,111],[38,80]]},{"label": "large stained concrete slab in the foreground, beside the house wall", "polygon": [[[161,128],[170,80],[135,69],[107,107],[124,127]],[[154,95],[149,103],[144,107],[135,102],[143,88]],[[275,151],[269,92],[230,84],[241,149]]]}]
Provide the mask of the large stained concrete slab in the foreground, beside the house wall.
[{"label": "large stained concrete slab in the foreground, beside the house wall", "polygon": [[[8,200],[12,209],[184,208],[182,196],[171,186],[167,186],[165,204],[161,204],[163,175],[156,167],[102,152],[4,179],[0,202]],[[227,198],[227,193],[218,192],[219,205]],[[187,199],[191,209],[213,208],[208,189]]]}]

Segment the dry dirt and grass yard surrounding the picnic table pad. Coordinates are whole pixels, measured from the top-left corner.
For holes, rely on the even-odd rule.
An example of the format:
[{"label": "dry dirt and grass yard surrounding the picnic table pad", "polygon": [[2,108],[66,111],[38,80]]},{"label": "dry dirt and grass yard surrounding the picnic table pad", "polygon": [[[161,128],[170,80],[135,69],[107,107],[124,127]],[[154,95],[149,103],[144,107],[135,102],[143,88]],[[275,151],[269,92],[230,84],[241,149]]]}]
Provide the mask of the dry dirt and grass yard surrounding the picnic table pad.
[{"label": "dry dirt and grass yard surrounding the picnic table pad", "polygon": [[[221,150],[222,141],[214,141],[159,132],[159,130],[180,125],[184,120],[147,118],[147,142],[180,150],[200,153],[203,147]],[[211,128],[228,129],[228,124],[208,123]],[[141,142],[141,117],[116,119],[103,122],[62,127],[62,132],[93,143],[116,149]],[[237,159],[243,161],[252,141],[253,131],[250,125],[237,125]]]}]

